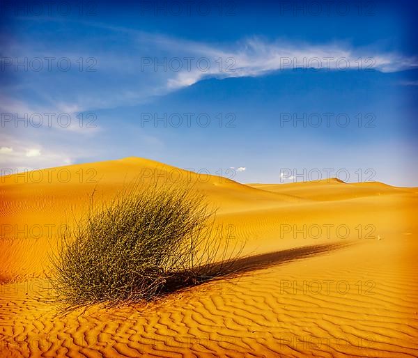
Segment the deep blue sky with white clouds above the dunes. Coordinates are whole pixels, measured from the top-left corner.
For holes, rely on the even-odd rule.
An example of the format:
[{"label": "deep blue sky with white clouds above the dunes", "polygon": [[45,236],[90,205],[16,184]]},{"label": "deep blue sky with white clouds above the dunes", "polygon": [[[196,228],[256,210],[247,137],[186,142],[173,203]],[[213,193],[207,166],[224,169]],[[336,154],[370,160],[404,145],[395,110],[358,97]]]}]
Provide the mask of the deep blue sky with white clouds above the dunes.
[{"label": "deep blue sky with white clouds above the dunes", "polygon": [[240,182],[415,186],[417,15],[402,1],[6,3],[1,168],[138,156]]}]

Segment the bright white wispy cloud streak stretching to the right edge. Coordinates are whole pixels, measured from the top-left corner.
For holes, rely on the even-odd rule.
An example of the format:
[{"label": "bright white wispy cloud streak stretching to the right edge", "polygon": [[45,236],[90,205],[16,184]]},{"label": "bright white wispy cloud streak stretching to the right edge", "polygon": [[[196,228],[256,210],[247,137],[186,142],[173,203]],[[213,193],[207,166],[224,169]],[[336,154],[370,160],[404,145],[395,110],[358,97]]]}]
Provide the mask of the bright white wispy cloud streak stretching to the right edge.
[{"label": "bright white wispy cloud streak stretching to the right edge", "polygon": [[[175,40],[172,40],[175,41]],[[195,84],[208,77],[257,77],[277,70],[315,68],[316,70],[378,70],[396,72],[418,67],[418,59],[396,53],[355,49],[348,45],[310,45],[294,42],[266,42],[251,38],[228,49],[196,42],[182,42],[187,56],[207,59],[208,70],[181,70],[167,79],[169,90]],[[180,56],[180,55],[179,55]],[[221,61],[219,61],[221,59]],[[222,62],[222,65],[219,65]]]}]

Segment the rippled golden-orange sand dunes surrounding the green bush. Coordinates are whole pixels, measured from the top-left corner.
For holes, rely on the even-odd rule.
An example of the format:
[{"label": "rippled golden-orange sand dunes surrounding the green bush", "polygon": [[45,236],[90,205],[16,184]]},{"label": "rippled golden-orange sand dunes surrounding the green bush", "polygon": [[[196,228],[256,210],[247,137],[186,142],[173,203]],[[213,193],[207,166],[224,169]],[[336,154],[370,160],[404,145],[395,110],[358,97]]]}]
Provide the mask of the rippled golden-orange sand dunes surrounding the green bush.
[{"label": "rippled golden-orange sand dunes surrounding the green bush", "polygon": [[[240,267],[153,304],[56,318],[56,231],[133,178],[191,181]],[[417,357],[417,188],[242,185],[136,157],[0,177],[1,357]]]}]

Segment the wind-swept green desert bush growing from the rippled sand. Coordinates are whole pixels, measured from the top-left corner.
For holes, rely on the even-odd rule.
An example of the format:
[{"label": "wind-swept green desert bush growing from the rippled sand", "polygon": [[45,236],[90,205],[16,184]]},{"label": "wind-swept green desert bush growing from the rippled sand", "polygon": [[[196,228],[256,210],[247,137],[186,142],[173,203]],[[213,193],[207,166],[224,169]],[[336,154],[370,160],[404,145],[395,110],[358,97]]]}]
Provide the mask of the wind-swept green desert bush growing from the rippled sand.
[{"label": "wind-swept green desert bush growing from the rippled sand", "polygon": [[150,300],[217,277],[231,256],[212,235],[215,210],[190,186],[130,185],[61,233],[51,257],[56,301],[68,307]]}]

